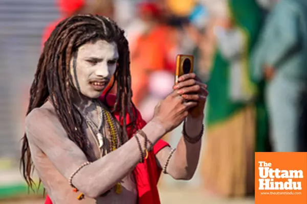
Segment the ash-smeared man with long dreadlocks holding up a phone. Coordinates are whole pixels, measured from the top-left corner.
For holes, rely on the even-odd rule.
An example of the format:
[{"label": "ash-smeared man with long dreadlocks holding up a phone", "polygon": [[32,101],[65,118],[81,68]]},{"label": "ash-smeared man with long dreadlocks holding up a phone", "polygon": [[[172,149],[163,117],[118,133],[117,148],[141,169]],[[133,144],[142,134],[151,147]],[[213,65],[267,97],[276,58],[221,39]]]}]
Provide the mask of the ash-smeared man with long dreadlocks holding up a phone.
[{"label": "ash-smeared man with long dreadlocks holding up a phone", "polygon": [[[113,74],[117,95],[102,96]],[[51,33],[30,89],[20,161],[30,187],[35,167],[46,203],[156,204],[162,170],[191,179],[206,85],[184,74],[146,123],[131,99],[130,80],[128,42],[113,20],[76,15]],[[183,120],[182,138],[171,148],[161,138]]]}]

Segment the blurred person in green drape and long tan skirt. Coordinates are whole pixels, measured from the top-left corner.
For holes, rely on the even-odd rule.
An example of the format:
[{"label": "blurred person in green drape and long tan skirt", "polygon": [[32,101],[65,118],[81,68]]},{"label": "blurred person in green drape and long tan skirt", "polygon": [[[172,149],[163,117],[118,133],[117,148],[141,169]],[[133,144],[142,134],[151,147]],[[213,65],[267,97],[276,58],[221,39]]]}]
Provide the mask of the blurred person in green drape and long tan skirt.
[{"label": "blurred person in green drape and long tan skirt", "polygon": [[[217,195],[254,192],[254,151],[268,138],[264,101],[250,78],[250,53],[261,27],[254,0],[218,1],[224,14],[215,17],[211,32],[216,52],[209,72],[207,129],[203,156],[204,185]],[[208,9],[216,10],[211,2]],[[212,2],[212,4],[214,4]],[[218,7],[217,7],[218,8]]]}]

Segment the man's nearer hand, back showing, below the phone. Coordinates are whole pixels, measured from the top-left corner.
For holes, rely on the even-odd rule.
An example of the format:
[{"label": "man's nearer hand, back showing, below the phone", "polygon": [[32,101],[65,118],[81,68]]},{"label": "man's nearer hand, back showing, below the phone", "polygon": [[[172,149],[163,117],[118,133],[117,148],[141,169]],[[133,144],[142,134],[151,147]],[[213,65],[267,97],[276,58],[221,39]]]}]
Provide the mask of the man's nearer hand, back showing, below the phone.
[{"label": "man's nearer hand, back showing, below the phone", "polygon": [[176,128],[186,118],[188,110],[196,105],[195,101],[185,101],[176,90],[155,107],[152,120],[160,122],[168,133]]}]

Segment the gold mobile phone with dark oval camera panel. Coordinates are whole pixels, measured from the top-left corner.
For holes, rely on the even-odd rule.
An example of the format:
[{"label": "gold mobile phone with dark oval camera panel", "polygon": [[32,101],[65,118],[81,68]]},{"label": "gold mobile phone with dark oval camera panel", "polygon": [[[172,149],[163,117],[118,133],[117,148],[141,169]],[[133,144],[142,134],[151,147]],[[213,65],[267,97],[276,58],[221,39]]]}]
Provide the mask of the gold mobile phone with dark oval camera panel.
[{"label": "gold mobile phone with dark oval camera panel", "polygon": [[178,78],[186,73],[193,72],[194,57],[192,55],[177,55],[175,84]]}]

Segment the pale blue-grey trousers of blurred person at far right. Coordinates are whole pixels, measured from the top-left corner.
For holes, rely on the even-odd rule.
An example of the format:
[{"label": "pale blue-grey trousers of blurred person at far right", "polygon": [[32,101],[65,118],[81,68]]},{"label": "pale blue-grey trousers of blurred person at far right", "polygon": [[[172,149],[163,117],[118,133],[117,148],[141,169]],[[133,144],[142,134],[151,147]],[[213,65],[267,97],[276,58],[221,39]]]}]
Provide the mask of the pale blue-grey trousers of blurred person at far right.
[{"label": "pale blue-grey trousers of blurred person at far right", "polygon": [[300,87],[282,78],[274,79],[267,90],[273,151],[298,151]]}]

